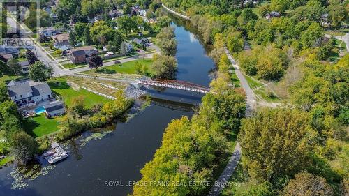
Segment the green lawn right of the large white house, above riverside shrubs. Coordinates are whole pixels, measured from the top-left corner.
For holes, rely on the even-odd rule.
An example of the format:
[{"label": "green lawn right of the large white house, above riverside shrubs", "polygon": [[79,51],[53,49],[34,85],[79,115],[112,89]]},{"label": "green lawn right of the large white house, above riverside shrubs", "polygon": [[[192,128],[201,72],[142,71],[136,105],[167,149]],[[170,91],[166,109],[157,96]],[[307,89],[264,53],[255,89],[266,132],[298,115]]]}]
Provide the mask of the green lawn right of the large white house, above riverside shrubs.
[{"label": "green lawn right of the large white house, above riverside shrubs", "polygon": [[72,99],[77,96],[84,96],[84,105],[87,108],[91,108],[94,105],[103,104],[110,101],[103,96],[98,96],[85,89],[75,91],[66,83],[66,78],[64,77],[54,78],[53,80],[50,80],[48,84],[52,91],[59,95],[63,99],[64,103],[68,105],[68,107],[70,107],[70,105],[72,104]]}]

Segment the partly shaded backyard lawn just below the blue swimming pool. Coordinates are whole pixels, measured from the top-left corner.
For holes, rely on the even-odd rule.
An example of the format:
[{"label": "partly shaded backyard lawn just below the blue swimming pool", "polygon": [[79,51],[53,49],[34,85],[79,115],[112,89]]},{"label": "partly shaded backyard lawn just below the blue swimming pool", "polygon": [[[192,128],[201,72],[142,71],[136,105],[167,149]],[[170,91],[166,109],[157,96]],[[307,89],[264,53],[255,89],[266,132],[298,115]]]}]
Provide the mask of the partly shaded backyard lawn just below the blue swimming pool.
[{"label": "partly shaded backyard lawn just below the blue swimming pool", "polygon": [[58,128],[58,118],[47,119],[44,114],[24,119],[24,130],[31,137],[41,137],[50,133],[54,133]]}]

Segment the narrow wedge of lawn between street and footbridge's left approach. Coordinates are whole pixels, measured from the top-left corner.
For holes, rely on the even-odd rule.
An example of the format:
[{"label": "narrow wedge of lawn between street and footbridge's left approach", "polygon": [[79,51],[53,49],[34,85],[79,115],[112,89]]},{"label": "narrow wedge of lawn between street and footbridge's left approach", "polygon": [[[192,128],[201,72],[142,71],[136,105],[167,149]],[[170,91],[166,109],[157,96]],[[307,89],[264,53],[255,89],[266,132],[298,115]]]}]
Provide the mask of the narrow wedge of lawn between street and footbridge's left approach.
[{"label": "narrow wedge of lawn between street and footbridge's left approach", "polygon": [[107,66],[105,68],[101,68],[98,70],[88,70],[85,71],[84,73],[86,74],[94,74],[94,73],[126,73],[126,74],[136,74],[135,72],[135,63],[139,62],[145,66],[148,67],[148,73],[150,73],[150,66],[151,63],[153,63],[152,59],[141,59],[141,60],[137,60],[137,61],[128,61],[126,63],[121,63],[121,64],[117,64],[114,66]]}]

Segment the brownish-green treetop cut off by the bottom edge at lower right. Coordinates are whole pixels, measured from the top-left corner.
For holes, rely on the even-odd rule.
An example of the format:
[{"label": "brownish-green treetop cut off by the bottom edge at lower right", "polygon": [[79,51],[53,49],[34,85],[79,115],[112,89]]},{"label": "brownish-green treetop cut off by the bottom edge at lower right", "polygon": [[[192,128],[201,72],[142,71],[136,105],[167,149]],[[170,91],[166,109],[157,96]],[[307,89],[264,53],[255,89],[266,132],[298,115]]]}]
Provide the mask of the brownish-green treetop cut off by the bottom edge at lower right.
[{"label": "brownish-green treetop cut off by the bottom edge at lower right", "polygon": [[320,176],[301,172],[291,179],[283,189],[285,196],[330,196],[333,195],[332,187]]}]

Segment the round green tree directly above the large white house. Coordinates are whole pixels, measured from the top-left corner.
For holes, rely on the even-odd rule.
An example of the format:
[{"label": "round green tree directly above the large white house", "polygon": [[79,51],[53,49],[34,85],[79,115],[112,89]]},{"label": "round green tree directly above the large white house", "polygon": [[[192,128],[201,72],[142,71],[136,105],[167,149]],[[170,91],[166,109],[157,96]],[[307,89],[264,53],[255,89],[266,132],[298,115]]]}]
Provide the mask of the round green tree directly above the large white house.
[{"label": "round green tree directly above the large white house", "polygon": [[52,75],[52,67],[46,67],[43,62],[38,61],[29,67],[29,78],[35,82],[46,82]]}]

